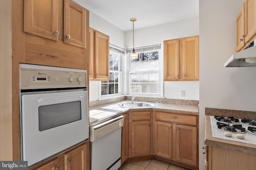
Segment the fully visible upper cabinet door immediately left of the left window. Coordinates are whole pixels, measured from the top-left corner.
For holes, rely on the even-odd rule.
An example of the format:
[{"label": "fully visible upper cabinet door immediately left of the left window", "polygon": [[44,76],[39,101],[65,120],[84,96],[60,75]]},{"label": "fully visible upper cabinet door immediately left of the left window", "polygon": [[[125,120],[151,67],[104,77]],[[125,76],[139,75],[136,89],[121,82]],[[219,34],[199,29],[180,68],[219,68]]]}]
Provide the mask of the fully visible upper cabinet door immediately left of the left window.
[{"label": "fully visible upper cabinet door immediately left of the left window", "polygon": [[109,36],[95,31],[95,78],[109,79]]}]

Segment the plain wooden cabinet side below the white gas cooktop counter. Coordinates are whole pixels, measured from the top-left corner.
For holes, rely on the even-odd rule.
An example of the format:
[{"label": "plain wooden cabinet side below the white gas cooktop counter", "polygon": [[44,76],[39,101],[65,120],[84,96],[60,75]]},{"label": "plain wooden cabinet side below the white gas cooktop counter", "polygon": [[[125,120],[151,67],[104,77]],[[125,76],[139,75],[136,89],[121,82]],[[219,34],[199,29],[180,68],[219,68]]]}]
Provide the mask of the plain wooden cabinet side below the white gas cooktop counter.
[{"label": "plain wooden cabinet side below the white gas cooktop counter", "polygon": [[208,146],[205,170],[255,170],[256,154]]}]

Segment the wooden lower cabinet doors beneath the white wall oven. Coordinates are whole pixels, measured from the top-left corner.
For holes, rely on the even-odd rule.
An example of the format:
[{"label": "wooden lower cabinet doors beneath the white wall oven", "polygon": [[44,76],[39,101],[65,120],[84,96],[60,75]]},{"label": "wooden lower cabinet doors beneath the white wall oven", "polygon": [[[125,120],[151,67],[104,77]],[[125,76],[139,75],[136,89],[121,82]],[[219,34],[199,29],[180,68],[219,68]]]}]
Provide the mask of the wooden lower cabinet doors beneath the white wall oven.
[{"label": "wooden lower cabinet doors beneath the white wall oven", "polygon": [[56,159],[40,167],[32,167],[29,170],[90,170],[89,141],[84,145],[59,154]]}]

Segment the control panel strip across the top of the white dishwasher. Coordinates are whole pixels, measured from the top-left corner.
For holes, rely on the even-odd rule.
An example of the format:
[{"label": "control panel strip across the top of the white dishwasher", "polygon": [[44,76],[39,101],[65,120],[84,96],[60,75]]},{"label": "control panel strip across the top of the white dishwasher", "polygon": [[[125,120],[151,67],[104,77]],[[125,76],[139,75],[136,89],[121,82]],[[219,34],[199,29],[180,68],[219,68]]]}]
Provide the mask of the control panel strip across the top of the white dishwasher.
[{"label": "control panel strip across the top of the white dishwasher", "polygon": [[101,137],[123,127],[124,116],[118,116],[108,121],[90,127],[90,142],[94,142]]}]

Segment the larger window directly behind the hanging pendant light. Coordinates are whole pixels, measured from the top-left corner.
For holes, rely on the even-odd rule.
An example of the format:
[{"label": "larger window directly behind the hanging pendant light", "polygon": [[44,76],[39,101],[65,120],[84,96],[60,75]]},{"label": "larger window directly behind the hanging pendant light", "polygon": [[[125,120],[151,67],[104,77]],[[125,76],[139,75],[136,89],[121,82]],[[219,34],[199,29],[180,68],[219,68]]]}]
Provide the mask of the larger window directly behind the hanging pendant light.
[{"label": "larger window directly behind the hanging pendant light", "polygon": [[160,96],[160,48],[159,44],[135,49],[139,58],[130,60],[129,94]]}]

